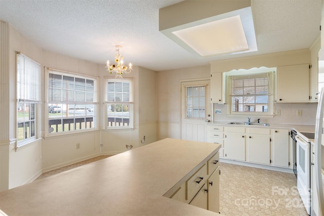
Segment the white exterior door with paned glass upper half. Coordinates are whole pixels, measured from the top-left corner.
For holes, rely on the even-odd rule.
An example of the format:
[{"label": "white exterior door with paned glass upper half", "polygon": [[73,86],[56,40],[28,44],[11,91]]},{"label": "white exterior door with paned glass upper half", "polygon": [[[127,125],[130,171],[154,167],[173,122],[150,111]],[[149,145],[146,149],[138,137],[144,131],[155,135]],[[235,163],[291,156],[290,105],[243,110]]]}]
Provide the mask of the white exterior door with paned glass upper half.
[{"label": "white exterior door with paned glass upper half", "polygon": [[207,142],[211,120],[210,80],[181,82],[181,139]]}]

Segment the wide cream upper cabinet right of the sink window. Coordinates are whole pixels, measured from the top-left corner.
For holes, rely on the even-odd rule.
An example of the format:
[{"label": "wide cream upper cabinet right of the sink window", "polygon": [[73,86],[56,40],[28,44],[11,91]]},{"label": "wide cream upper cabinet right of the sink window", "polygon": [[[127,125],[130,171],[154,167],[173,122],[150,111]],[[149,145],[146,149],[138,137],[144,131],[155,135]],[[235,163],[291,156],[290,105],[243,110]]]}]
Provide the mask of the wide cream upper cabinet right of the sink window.
[{"label": "wide cream upper cabinet right of the sink window", "polygon": [[277,67],[277,103],[309,102],[309,64]]}]

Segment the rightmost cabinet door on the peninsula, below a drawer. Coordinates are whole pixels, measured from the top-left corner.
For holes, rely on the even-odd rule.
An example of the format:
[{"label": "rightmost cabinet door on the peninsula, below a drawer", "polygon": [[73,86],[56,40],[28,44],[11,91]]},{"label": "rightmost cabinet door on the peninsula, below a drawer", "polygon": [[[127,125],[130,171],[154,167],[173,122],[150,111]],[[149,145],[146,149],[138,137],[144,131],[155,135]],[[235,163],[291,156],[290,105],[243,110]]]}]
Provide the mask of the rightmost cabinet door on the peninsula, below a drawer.
[{"label": "rightmost cabinet door on the peninsula, below a drawer", "polygon": [[208,179],[208,210],[219,212],[219,166]]}]

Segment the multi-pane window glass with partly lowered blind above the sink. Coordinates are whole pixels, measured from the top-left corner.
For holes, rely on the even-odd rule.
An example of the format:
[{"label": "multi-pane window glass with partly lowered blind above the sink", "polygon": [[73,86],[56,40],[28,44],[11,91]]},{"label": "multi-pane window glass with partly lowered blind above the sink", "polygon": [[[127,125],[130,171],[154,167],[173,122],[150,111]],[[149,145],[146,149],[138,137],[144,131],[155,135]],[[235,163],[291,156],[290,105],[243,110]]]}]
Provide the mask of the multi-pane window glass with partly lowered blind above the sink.
[{"label": "multi-pane window glass with partly lowered blind above the sink", "polygon": [[270,73],[229,76],[232,112],[268,112]]}]

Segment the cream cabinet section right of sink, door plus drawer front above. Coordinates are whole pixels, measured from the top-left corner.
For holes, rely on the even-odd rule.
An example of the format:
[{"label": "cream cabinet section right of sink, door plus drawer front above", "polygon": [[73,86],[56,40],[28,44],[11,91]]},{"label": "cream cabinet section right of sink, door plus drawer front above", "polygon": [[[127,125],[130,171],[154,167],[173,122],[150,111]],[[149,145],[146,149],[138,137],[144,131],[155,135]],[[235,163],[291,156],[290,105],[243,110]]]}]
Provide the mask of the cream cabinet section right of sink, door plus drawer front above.
[{"label": "cream cabinet section right of sink, door plus drawer front above", "polygon": [[247,128],[247,161],[260,164],[270,164],[270,129]]}]

